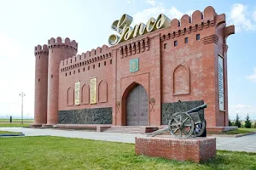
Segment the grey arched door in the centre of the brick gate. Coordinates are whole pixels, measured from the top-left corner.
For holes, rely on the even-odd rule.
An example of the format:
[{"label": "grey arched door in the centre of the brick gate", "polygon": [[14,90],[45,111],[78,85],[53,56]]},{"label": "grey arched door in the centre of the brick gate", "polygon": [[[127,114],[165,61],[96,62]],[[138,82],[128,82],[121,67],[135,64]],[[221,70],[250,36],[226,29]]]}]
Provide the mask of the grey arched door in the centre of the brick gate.
[{"label": "grey arched door in the centre of the brick gate", "polygon": [[127,126],[148,126],[148,94],[137,85],[127,97]]}]

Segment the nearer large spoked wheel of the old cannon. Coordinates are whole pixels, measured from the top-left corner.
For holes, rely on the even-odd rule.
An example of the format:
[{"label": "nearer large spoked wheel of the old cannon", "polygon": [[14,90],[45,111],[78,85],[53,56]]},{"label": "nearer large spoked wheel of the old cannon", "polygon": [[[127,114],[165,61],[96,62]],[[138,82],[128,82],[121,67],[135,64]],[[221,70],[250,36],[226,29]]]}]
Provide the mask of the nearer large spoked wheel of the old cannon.
[{"label": "nearer large spoked wheel of the old cannon", "polygon": [[[194,126],[193,119],[185,112],[173,114],[168,125],[170,133],[177,139],[189,138],[194,132]],[[177,133],[177,131],[179,132]]]}]

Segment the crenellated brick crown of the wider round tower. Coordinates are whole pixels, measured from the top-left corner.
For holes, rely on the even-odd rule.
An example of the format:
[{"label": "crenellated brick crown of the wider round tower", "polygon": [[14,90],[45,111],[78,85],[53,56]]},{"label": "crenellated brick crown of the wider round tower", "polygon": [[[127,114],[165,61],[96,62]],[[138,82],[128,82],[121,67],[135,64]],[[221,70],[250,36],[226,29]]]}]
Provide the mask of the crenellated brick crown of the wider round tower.
[{"label": "crenellated brick crown of the wider round tower", "polygon": [[73,48],[75,50],[78,50],[78,42],[76,42],[75,40],[71,42],[68,37],[65,38],[65,40],[62,40],[61,37],[57,37],[56,39],[51,37],[48,40],[48,48]]}]

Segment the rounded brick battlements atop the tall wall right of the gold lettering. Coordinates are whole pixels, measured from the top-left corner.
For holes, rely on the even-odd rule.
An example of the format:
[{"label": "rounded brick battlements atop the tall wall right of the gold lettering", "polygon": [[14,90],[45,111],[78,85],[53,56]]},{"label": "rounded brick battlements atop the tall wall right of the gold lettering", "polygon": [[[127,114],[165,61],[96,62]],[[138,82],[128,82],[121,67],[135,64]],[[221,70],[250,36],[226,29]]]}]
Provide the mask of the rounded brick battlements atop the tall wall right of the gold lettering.
[{"label": "rounded brick battlements atop the tall wall right of the gold lettering", "polygon": [[179,37],[186,33],[200,31],[210,26],[219,26],[225,23],[225,14],[217,14],[212,6],[204,9],[203,13],[196,10],[191,16],[184,14],[181,20],[173,19],[170,29],[161,33],[161,41],[169,38]]}]

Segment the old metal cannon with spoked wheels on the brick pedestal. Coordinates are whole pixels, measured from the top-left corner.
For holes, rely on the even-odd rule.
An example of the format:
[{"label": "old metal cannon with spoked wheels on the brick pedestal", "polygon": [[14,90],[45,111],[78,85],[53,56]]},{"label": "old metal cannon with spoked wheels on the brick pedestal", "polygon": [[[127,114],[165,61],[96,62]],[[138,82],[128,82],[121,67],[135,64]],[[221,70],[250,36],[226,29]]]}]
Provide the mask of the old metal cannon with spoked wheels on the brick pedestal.
[{"label": "old metal cannon with spoked wheels on the brick pedestal", "polygon": [[168,127],[147,133],[147,135],[155,136],[169,131],[177,139],[199,137],[205,132],[206,120],[201,118],[197,111],[205,108],[207,108],[207,104],[200,105],[186,112],[176,112],[169,120]]}]

